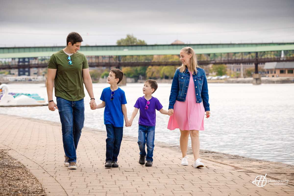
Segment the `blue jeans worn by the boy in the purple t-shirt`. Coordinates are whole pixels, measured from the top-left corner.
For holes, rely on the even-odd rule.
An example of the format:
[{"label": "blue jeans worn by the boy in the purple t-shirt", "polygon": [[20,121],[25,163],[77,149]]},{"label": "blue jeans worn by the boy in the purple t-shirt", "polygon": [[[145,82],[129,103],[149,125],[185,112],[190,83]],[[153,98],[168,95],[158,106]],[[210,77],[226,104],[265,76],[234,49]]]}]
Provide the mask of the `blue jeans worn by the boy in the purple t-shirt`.
[{"label": "blue jeans worn by the boy in the purple t-shirt", "polygon": [[[146,156],[146,161],[150,160],[153,162],[155,126],[139,125],[138,134],[140,155]],[[147,144],[147,154],[145,151],[145,144]]]}]

